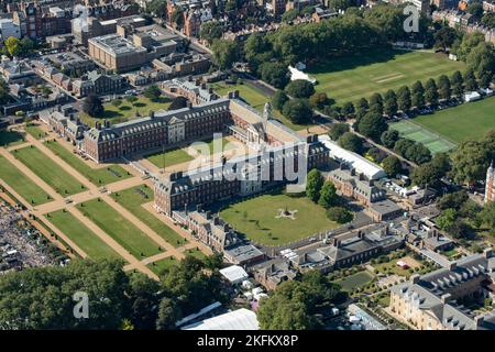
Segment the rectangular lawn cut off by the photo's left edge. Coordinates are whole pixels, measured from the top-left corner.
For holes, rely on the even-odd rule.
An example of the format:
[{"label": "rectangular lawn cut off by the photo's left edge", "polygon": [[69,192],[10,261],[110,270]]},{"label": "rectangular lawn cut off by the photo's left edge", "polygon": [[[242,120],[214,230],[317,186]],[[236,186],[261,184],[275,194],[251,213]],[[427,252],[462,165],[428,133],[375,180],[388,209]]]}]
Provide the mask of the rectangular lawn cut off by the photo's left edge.
[{"label": "rectangular lawn cut off by the photo's left edge", "polygon": [[0,178],[33,206],[51,201],[51,197],[20,169],[0,156]]}]

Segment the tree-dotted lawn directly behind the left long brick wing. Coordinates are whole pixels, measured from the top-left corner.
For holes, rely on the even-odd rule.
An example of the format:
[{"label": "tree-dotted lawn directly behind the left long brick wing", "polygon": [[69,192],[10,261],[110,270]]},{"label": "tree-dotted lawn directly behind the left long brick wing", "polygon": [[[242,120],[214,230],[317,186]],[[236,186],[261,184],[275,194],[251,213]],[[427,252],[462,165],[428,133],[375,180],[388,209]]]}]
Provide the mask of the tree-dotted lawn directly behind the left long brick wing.
[{"label": "tree-dotted lawn directly behind the left long brick wing", "polygon": [[95,125],[95,122],[102,122],[103,120],[109,120],[112,124],[121,123],[130,120],[139,119],[136,116],[139,113],[141,117],[147,117],[150,110],[158,111],[166,110],[170,106],[172,101],[162,97],[160,101],[151,101],[146,97],[138,97],[138,101],[130,103],[125,99],[122,99],[122,105],[120,107],[114,107],[112,102],[103,105],[103,113],[97,118],[91,118],[86,113],[80,114],[80,119],[88,125]]}]

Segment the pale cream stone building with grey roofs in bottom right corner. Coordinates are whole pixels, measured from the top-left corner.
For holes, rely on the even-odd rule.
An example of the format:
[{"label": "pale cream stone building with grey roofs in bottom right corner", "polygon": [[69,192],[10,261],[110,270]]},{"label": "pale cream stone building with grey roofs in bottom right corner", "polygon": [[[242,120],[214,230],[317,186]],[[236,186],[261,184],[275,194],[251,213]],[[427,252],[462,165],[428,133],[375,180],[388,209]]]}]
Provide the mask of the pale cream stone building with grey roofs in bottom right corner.
[{"label": "pale cream stone building with grey roofs in bottom right corner", "polygon": [[389,311],[418,330],[495,330],[495,310],[475,314],[462,302],[475,305],[494,280],[491,250],[451,262],[426,275],[411,275],[391,289]]}]

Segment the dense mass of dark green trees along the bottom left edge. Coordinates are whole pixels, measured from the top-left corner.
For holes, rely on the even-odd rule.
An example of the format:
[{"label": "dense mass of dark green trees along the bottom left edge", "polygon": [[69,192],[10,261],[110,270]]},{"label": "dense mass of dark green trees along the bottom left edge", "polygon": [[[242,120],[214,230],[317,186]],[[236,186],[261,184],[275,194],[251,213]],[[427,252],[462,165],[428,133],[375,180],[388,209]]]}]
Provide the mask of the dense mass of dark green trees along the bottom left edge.
[{"label": "dense mass of dark green trees along the bottom left edge", "polygon": [[[0,328],[175,329],[182,317],[226,300],[220,264],[218,256],[188,256],[164,270],[160,282],[109,260],[9,273],[0,277]],[[76,293],[88,295],[88,319],[74,316]]]}]

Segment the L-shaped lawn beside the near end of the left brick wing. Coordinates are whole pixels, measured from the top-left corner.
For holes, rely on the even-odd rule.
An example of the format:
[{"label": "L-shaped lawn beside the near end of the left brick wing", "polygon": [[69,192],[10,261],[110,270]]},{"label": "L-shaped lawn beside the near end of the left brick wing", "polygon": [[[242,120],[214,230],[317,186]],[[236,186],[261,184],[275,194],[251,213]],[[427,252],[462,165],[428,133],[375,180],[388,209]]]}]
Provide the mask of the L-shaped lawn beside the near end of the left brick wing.
[{"label": "L-shaped lawn beside the near end of the left brick wing", "polygon": [[64,162],[77,169],[82,176],[94,185],[108,185],[121,179],[129,178],[129,173],[119,165],[108,165],[103,168],[91,168],[74,153],[70,153],[57,141],[46,141],[45,145]]}]

